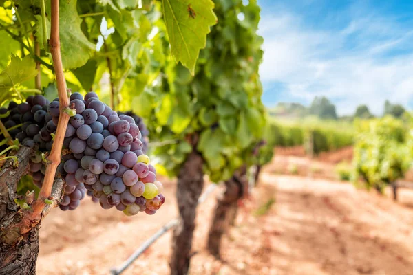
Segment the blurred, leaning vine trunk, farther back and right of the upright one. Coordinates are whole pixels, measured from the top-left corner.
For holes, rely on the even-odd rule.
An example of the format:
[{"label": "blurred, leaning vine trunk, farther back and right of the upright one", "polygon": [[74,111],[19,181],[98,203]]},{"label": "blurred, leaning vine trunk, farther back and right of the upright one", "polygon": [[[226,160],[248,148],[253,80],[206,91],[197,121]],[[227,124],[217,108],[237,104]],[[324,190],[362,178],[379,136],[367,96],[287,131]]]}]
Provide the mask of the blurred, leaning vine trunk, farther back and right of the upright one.
[{"label": "blurred, leaning vine trunk, farther back and right of the upright one", "polygon": [[217,197],[207,243],[209,252],[217,258],[220,258],[222,235],[229,225],[234,225],[238,212],[237,202],[247,191],[248,181],[245,175],[246,168],[240,168],[231,179],[224,182],[225,189]]}]

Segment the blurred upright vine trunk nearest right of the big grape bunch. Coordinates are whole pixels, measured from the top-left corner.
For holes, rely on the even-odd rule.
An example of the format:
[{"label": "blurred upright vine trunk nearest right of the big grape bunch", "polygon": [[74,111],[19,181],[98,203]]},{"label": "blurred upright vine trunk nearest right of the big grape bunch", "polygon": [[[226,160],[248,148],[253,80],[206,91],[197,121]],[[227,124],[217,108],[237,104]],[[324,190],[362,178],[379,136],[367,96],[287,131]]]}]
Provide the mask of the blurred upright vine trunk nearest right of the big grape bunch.
[{"label": "blurred upright vine trunk nearest right of the big grape bunch", "polygon": [[176,199],[179,221],[173,231],[170,263],[172,275],[184,275],[189,271],[196,207],[204,187],[202,164],[202,157],[194,148],[178,175]]}]

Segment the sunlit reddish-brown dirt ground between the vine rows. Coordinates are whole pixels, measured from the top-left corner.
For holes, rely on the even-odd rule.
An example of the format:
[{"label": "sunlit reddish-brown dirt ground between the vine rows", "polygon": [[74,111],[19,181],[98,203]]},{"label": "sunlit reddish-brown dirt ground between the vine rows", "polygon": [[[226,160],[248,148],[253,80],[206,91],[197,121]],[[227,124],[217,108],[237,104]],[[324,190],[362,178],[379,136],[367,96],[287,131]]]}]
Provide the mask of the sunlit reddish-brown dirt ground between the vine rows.
[{"label": "sunlit reddish-brown dirt ground between the vine rows", "polygon": [[[394,203],[314,173],[279,175],[279,162],[273,159],[251,197],[240,203],[236,225],[222,243],[222,260],[205,250],[220,190],[198,208],[190,274],[413,274],[412,191],[401,190]],[[125,217],[87,198],[74,212],[54,210],[42,224],[37,273],[109,274],[176,216],[175,182],[164,182],[167,203],[154,216]],[[271,207],[263,207],[271,200]],[[171,232],[162,236],[124,274],[169,274],[170,239]]]}]

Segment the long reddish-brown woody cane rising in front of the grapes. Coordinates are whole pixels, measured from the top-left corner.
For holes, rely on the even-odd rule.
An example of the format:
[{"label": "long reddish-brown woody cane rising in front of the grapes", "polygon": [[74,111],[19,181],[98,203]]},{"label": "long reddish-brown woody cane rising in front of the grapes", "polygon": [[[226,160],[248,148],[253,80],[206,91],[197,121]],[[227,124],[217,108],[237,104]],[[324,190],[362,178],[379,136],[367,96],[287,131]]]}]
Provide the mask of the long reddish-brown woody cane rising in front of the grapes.
[{"label": "long reddish-brown woody cane rising in front of the grapes", "polygon": [[[51,1],[51,28],[50,28],[50,52],[52,53],[52,59],[54,63],[54,72],[56,74],[57,91],[59,94],[59,104],[60,104],[60,115],[59,122],[57,124],[56,135],[54,137],[54,142],[52,146],[52,151],[47,157],[47,167],[45,178],[43,181],[43,186],[39,192],[39,197],[34,201],[32,205],[32,212],[28,212],[28,215],[23,219],[23,226],[21,227],[21,233],[25,234],[30,231],[30,229],[36,226],[40,220],[41,216],[45,216],[48,211],[45,210],[50,207],[45,203],[45,199],[50,199],[52,195],[52,187],[54,176],[56,175],[57,166],[61,162],[61,151],[63,147],[63,139],[65,138],[67,123],[69,122],[70,116],[65,113],[65,109],[69,107],[69,98],[67,97],[65,76],[63,74],[63,63],[61,58],[61,45],[59,37],[59,0]],[[56,198],[55,198],[56,199]],[[57,198],[59,199],[59,198]],[[57,206],[57,203],[54,205]]]}]

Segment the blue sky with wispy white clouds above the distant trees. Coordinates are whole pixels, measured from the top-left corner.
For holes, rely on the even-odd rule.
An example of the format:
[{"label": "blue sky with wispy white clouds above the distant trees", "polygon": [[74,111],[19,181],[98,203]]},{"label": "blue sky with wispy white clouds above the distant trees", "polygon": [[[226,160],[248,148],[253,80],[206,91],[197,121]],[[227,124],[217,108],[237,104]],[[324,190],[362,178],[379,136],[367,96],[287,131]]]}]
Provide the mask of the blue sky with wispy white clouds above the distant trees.
[{"label": "blue sky with wispy white clouds above the distant trees", "polygon": [[413,1],[258,0],[266,106],[328,96],[340,115],[413,107]]}]

